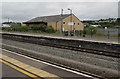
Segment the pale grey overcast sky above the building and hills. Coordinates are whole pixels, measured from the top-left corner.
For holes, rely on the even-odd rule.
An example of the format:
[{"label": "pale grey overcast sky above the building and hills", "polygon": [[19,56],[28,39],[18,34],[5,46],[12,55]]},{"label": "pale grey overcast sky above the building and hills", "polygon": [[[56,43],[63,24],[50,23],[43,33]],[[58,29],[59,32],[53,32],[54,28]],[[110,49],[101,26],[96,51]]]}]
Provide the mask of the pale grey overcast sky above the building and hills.
[{"label": "pale grey overcast sky above the building and hills", "polygon": [[80,20],[96,20],[118,17],[118,2],[104,1],[81,1],[81,2],[45,2],[41,1],[14,1],[5,0],[2,2],[2,22],[10,21],[25,22],[39,16],[58,15],[61,9],[64,14],[69,14],[70,8]]}]

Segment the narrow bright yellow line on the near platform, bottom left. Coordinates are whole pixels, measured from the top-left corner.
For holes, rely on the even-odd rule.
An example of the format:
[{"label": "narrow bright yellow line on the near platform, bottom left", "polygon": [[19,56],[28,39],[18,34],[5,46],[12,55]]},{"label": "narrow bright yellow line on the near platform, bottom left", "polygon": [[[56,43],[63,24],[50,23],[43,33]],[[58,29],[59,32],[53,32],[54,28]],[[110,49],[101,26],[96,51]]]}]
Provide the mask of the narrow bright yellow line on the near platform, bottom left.
[{"label": "narrow bright yellow line on the near platform, bottom left", "polygon": [[27,72],[27,71],[24,71],[23,69],[20,69],[20,68],[18,68],[17,66],[14,66],[14,65],[12,65],[12,64],[10,64],[10,63],[2,60],[2,59],[0,59],[0,62],[2,62],[2,63],[4,63],[4,64],[6,64],[6,65],[8,65],[8,66],[10,66],[10,67],[12,67],[12,68],[14,68],[15,70],[17,70],[17,71],[19,71],[19,72],[22,72],[22,73],[25,74],[25,75],[28,75],[29,77],[32,77],[33,79],[41,79],[41,78],[37,77],[36,75],[33,75],[33,74],[31,74],[31,73],[29,73],[29,72]]}]

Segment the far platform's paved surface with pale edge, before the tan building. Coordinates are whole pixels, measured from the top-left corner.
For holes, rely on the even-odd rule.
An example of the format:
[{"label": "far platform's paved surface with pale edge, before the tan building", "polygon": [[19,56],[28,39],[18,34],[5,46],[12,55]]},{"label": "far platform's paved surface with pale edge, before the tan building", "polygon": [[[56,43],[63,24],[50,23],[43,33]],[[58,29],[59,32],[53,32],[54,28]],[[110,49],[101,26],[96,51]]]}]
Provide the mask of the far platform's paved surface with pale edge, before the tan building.
[{"label": "far platform's paved surface with pale edge, before the tan building", "polygon": [[80,37],[80,36],[64,36],[63,34],[47,34],[47,33],[26,33],[26,32],[2,32],[2,33],[13,33],[13,34],[23,34],[23,35],[32,35],[32,36],[44,36],[44,37],[54,37],[54,38],[61,38],[61,39],[72,39],[72,40],[85,40],[85,41],[92,41],[92,42],[103,42],[103,43],[113,43],[113,44],[120,44],[118,37]]}]

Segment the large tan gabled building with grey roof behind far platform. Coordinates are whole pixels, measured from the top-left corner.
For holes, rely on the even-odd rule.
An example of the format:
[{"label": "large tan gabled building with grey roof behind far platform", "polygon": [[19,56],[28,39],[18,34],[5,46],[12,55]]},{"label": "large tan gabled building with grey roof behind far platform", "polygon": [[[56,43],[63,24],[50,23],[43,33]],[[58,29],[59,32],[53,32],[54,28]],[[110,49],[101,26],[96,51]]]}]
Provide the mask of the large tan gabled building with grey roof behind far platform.
[{"label": "large tan gabled building with grey roof behind far platform", "polygon": [[84,29],[84,24],[74,14],[36,17],[23,22],[22,25],[29,26],[32,24],[46,24],[52,26],[56,31],[80,31]]}]

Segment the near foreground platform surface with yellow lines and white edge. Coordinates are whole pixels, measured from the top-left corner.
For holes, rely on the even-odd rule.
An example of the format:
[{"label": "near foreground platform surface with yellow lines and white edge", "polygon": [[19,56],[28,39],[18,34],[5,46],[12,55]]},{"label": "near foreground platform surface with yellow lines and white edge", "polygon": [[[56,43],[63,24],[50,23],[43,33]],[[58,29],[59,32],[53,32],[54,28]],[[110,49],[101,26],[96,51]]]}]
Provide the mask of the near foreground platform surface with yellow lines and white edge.
[{"label": "near foreground platform surface with yellow lines and white edge", "polygon": [[[90,76],[85,74],[70,72],[66,69],[61,69],[43,62],[38,62],[34,59],[30,59],[6,50],[2,50],[2,59],[5,60],[1,61],[4,63],[3,70],[5,70],[3,71],[3,76],[26,77],[27,75],[32,79],[91,79]],[[6,69],[8,71],[6,71]],[[9,71],[13,71],[13,73],[10,73]],[[5,73],[8,74],[6,75]]]}]

